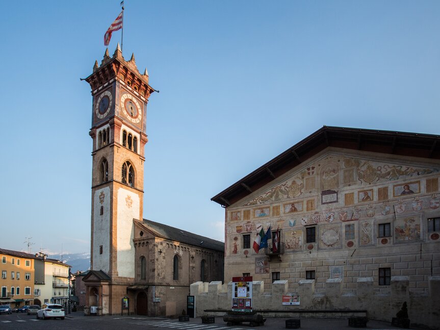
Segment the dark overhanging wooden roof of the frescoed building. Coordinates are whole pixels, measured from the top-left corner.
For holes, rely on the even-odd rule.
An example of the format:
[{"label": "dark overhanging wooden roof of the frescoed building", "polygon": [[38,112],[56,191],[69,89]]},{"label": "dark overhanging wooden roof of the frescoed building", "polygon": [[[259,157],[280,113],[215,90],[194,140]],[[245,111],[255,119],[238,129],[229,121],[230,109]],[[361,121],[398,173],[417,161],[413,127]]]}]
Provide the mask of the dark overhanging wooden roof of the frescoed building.
[{"label": "dark overhanging wooden roof of the frescoed building", "polygon": [[230,206],[326,147],[440,159],[438,135],[323,126],[211,200],[222,206]]}]

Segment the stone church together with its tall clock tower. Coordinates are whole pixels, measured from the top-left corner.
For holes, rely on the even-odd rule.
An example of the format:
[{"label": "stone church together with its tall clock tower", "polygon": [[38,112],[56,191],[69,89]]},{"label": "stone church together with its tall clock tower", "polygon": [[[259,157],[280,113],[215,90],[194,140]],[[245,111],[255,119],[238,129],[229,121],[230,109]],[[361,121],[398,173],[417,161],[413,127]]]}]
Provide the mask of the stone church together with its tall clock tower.
[{"label": "stone church together with its tall clock tower", "polygon": [[86,314],[182,314],[191,283],[222,280],[224,243],[142,218],[147,103],[156,92],[147,70],[118,44],[85,80],[93,96]]}]

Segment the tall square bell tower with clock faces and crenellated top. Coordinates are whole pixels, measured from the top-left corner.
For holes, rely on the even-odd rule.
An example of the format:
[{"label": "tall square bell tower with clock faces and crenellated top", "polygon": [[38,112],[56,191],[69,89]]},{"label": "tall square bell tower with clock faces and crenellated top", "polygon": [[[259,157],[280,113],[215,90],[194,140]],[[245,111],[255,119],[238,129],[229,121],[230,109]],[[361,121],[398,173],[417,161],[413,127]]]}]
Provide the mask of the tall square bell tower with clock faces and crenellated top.
[{"label": "tall square bell tower with clock faces and crenellated top", "polygon": [[96,279],[95,306],[117,314],[135,277],[134,221],[143,215],[146,113],[154,89],[134,55],[124,60],[119,43],[112,57],[106,49],[85,80],[93,96],[91,270],[105,277]]}]

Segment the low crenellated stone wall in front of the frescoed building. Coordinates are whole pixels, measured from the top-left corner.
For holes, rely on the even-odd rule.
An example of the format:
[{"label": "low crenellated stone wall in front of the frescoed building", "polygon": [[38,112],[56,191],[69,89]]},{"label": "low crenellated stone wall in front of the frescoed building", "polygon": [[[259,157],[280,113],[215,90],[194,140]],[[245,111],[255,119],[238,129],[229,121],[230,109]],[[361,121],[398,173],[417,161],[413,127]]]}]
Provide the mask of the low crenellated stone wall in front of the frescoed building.
[{"label": "low crenellated stone wall in front of the frescoed building", "polygon": [[[329,279],[322,292],[316,292],[314,280],[300,280],[295,292],[288,288],[287,280],[275,281],[271,290],[265,290],[263,281],[252,283],[253,310],[264,313],[266,317],[348,317],[358,313],[331,313],[335,310],[366,310],[372,319],[390,321],[402,307],[408,305],[411,324],[438,329],[440,303],[440,276],[430,276],[428,292],[411,292],[408,276],[392,276],[390,291],[386,293],[373,290],[372,277],[360,277],[355,292],[344,293],[341,278]],[[269,291],[269,292],[268,292]],[[297,294],[299,306],[283,306],[282,296]],[[222,315],[231,310],[232,283],[221,282],[191,285],[191,295],[196,300],[196,315]],[[218,312],[215,312],[218,311]],[[317,311],[327,311],[313,313]],[[331,314],[330,314],[331,313]]]}]

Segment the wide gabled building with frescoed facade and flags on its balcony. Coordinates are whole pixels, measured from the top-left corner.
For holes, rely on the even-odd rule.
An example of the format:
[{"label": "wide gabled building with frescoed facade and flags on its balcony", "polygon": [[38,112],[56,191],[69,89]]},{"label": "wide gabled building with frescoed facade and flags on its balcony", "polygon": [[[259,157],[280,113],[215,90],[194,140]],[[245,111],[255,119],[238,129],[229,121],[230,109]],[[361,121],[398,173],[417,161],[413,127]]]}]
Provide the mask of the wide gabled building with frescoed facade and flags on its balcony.
[{"label": "wide gabled building with frescoed facade and flags on its balcony", "polygon": [[[368,278],[386,295],[404,276],[410,294],[428,294],[440,275],[439,140],[324,126],[226,188],[212,198],[225,208],[225,281],[252,276],[270,291],[286,280],[295,293],[313,280],[319,294],[338,280],[350,295]],[[262,230],[267,247],[254,249]]]}]

